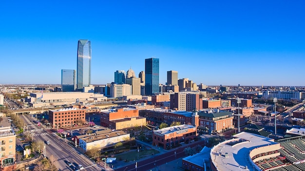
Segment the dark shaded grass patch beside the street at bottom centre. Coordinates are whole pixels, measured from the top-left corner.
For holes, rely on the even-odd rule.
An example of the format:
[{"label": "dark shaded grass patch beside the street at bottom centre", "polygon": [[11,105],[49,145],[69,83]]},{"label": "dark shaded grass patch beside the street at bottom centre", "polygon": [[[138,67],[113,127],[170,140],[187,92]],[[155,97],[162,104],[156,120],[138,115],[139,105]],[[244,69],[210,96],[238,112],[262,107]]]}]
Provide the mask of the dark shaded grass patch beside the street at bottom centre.
[{"label": "dark shaded grass patch beside the street at bottom centre", "polygon": [[[150,156],[150,155],[154,155],[156,153],[159,153],[159,151],[156,151],[154,149],[151,150],[144,150],[144,151],[140,151],[139,152],[139,159]],[[133,161],[133,160],[137,160],[138,157],[138,152],[135,151],[129,151],[129,152],[123,152],[121,154],[117,154],[115,155],[117,160],[122,160],[122,161]]]}]

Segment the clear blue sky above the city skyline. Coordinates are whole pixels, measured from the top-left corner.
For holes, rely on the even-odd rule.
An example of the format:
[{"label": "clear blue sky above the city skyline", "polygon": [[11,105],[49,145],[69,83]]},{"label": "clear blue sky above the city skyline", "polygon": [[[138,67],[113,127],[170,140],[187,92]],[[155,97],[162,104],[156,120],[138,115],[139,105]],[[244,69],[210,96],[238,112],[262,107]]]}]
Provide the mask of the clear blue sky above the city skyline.
[{"label": "clear blue sky above the city skyline", "polygon": [[160,60],[206,85],[305,86],[304,0],[6,0],[0,2],[0,84],[60,84],[92,46],[92,84]]}]

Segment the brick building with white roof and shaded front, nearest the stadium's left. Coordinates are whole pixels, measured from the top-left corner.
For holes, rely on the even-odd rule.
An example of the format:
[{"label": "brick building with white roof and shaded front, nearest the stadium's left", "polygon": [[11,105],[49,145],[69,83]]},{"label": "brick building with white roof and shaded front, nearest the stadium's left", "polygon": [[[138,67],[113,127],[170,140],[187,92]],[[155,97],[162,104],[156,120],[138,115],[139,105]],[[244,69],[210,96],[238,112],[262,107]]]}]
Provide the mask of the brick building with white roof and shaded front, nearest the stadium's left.
[{"label": "brick building with white roof and shaded front, nearest the stadium's left", "polygon": [[152,131],[152,145],[171,149],[180,143],[188,143],[196,137],[196,127],[179,125]]}]

